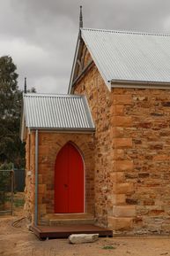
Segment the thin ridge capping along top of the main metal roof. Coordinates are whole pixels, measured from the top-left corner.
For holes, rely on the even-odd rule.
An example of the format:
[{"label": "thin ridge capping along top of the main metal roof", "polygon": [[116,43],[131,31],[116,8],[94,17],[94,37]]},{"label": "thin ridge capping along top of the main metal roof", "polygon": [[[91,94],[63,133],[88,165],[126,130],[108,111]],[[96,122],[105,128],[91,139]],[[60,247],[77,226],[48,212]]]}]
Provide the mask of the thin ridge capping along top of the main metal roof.
[{"label": "thin ridge capping along top of the main metal roof", "polygon": [[100,28],[88,28],[88,27],[83,27],[81,28],[81,30],[98,31],[98,32],[113,33],[113,34],[170,36],[170,34],[168,33],[138,32],[138,31],[102,29],[102,28],[100,29]]}]

